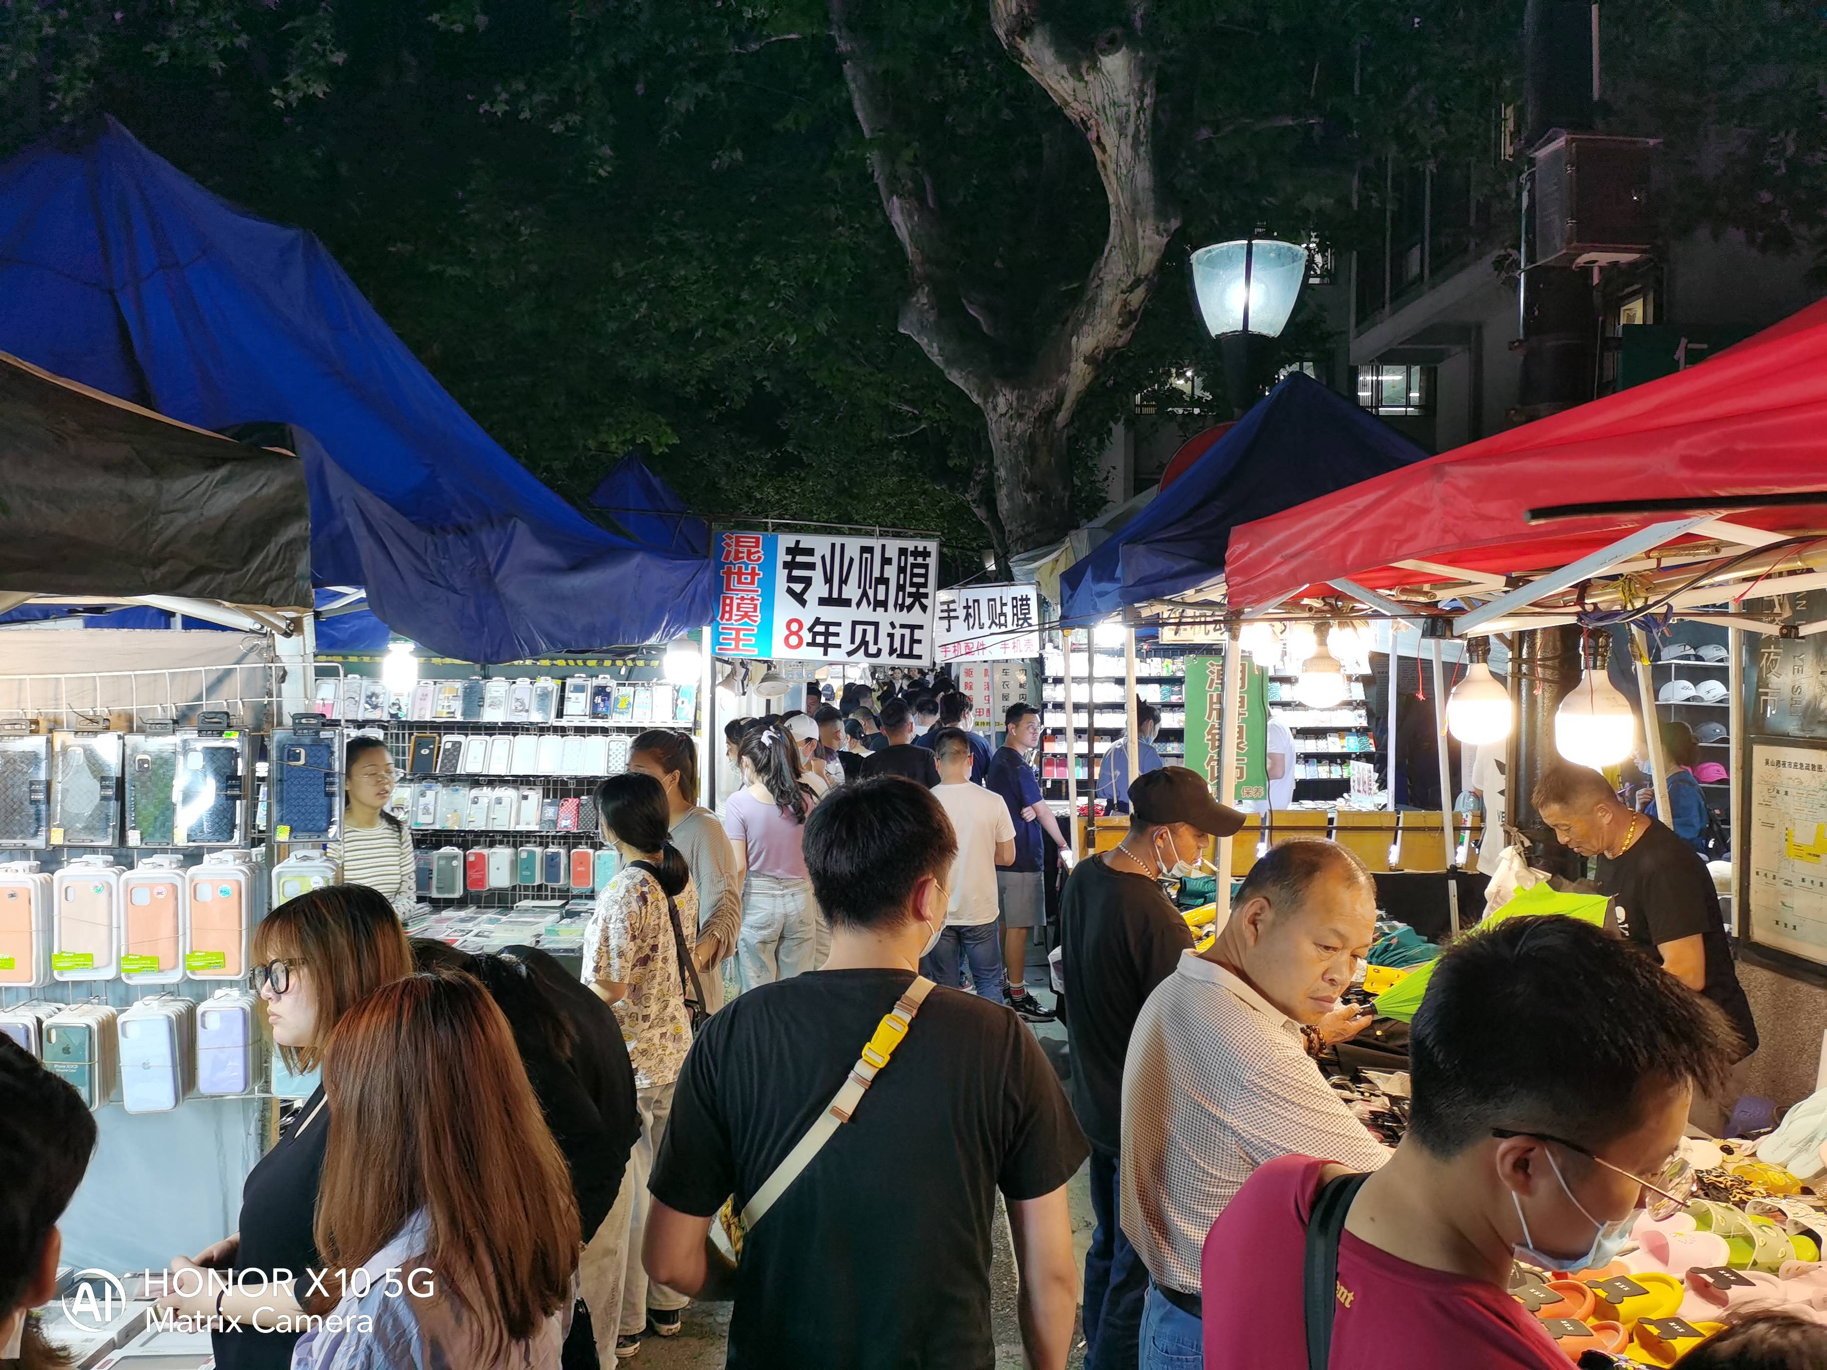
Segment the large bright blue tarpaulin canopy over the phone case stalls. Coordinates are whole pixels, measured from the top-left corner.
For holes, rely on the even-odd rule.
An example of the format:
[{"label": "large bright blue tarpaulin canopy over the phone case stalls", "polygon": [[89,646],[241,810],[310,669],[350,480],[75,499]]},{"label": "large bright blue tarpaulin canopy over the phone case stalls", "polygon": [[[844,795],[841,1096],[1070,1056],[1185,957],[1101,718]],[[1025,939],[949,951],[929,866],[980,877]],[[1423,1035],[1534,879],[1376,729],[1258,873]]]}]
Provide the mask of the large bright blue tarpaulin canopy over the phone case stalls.
[{"label": "large bright blue tarpaulin canopy over the phone case stalls", "polygon": [[217,199],[111,119],[0,166],[0,351],[197,427],[292,426],[312,583],[367,586],[382,621],[444,656],[663,641],[714,614],[707,557],[585,519],[316,237]]}]

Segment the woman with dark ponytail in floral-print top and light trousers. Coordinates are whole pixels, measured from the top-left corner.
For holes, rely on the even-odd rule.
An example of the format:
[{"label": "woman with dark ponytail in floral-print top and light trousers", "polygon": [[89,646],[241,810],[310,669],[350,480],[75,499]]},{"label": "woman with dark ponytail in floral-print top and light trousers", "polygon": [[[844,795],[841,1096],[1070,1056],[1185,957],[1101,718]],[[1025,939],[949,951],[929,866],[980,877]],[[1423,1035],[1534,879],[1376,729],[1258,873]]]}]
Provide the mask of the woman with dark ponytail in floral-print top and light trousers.
[{"label": "woman with dark ponytail in floral-print top and light trousers", "polygon": [[[667,793],[650,775],[630,771],[608,776],[596,787],[596,811],[603,840],[623,857],[623,868],[596,897],[596,913],[583,935],[583,983],[621,1019],[634,1061],[636,1100],[641,1109],[641,1138],[628,1156],[616,1207],[597,1229],[597,1240],[585,1262],[599,1302],[590,1302],[590,1321],[597,1344],[616,1330],[618,1357],[634,1355],[641,1335],[652,1324],[661,1337],[680,1330],[680,1310],[689,1299],[663,1284],[649,1286],[641,1268],[641,1238],[647,1231],[647,1176],[654,1153],[672,1114],[672,1085],[692,1039],[692,1008],[702,1008],[698,972],[691,946],[698,941],[698,888],[685,857],[672,846]],[[627,1211],[627,1228],[616,1215]],[[619,1253],[608,1248],[625,1235]],[[614,1275],[619,1266],[619,1297]]]}]

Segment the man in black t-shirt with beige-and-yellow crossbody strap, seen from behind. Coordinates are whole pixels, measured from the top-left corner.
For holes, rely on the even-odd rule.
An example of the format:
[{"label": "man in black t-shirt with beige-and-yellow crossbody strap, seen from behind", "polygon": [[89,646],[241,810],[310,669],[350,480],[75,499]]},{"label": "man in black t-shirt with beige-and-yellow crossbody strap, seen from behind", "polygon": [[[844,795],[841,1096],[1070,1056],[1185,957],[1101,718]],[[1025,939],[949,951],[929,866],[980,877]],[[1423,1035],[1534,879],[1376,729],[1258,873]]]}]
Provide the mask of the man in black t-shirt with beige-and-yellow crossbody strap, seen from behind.
[{"label": "man in black t-shirt with beige-and-yellow crossbody strap, seen from behind", "polygon": [[804,851],[831,957],[749,990],[692,1041],[650,1182],[647,1271],[734,1299],[742,1370],[992,1370],[999,1189],[1027,1363],[1061,1370],[1078,1310],[1065,1182],[1085,1140],[1040,1043],[977,996],[926,996],[848,1122],[747,1231],[738,1268],[707,1246],[723,1200],[742,1209],[833,1101],[945,928],[957,842],[930,791],[844,785],[806,820]]}]

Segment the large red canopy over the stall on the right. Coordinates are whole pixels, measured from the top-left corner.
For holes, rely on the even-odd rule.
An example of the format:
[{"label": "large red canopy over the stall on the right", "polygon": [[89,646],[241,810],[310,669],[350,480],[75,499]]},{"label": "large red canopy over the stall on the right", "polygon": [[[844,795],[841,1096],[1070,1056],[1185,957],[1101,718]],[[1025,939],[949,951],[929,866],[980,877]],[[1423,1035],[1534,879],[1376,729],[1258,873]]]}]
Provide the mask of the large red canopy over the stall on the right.
[{"label": "large red canopy over the stall on the right", "polygon": [[[1758,499],[1798,491],[1818,499]],[[1242,524],[1226,599],[1248,610],[1308,586],[1452,583],[1493,594],[1544,570],[1564,588],[1655,546],[1792,537],[1822,524],[1823,504],[1827,300],[1694,369]]]}]

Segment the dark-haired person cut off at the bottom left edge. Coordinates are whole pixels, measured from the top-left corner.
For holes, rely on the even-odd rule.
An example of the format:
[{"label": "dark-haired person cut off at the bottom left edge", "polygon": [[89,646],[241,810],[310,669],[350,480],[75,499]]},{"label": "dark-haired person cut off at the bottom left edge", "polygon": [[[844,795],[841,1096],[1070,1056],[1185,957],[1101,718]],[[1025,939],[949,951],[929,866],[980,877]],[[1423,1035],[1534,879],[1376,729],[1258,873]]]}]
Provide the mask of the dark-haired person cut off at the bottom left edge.
[{"label": "dark-haired person cut off at the bottom left edge", "polygon": [[0,1361],[20,1370],[69,1365],[31,1310],[57,1295],[57,1220],[82,1184],[95,1134],[95,1114],[69,1081],[0,1038]]}]

